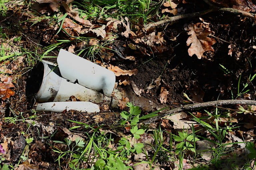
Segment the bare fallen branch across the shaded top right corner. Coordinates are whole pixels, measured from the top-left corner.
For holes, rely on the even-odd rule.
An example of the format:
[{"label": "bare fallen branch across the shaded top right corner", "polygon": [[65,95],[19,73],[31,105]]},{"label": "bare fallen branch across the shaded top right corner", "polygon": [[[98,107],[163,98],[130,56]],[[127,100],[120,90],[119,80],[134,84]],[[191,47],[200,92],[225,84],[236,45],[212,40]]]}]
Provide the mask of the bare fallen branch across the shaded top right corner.
[{"label": "bare fallen branch across the shaded top right corner", "polygon": [[248,18],[252,18],[256,20],[256,14],[252,14],[249,12],[245,12],[245,11],[241,11],[238,9],[234,9],[234,8],[215,8],[213,7],[212,9],[206,10],[206,11],[202,11],[202,12],[195,12],[195,13],[190,13],[190,14],[183,14],[183,15],[178,15],[178,16],[174,16],[174,17],[169,17],[167,19],[155,22],[155,23],[149,23],[147,25],[144,26],[145,31],[150,30],[153,27],[157,27],[159,25],[165,24],[165,23],[170,23],[170,22],[174,22],[174,21],[178,21],[180,19],[184,19],[184,18],[193,18],[193,17],[198,17],[198,16],[202,16],[214,11],[223,11],[223,12],[229,12],[229,13],[234,13],[237,15],[242,15]]}]

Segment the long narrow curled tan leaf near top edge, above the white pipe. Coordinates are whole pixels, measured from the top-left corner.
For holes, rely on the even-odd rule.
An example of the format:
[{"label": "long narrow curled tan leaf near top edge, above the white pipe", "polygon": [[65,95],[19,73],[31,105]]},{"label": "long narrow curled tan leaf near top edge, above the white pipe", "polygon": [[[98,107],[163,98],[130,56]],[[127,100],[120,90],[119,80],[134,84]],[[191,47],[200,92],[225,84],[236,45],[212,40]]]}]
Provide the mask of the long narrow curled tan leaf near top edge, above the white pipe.
[{"label": "long narrow curled tan leaf near top edge, above the white pipe", "polygon": [[[78,12],[75,11],[75,9],[72,9],[72,6],[71,6],[71,5],[70,5],[70,7],[69,7],[66,3],[62,2],[62,6],[64,7],[64,9],[66,10],[67,14],[68,14],[71,18],[73,18],[73,19],[76,20],[77,22],[79,22],[79,23],[85,25],[85,27],[90,27],[90,26],[92,26],[92,23],[90,23],[90,21],[84,20],[84,19],[80,18],[79,15],[78,15]],[[77,8],[77,10],[78,10],[78,8]]]}]

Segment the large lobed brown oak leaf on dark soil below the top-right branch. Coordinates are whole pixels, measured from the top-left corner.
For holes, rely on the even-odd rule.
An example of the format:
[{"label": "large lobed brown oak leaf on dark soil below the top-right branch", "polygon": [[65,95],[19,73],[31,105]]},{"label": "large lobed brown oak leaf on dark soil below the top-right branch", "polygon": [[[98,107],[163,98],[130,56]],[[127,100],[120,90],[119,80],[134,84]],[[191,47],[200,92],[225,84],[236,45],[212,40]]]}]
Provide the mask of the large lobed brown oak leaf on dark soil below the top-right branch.
[{"label": "large lobed brown oak leaf on dark soil below the top-right branch", "polygon": [[211,33],[210,31],[198,28],[195,24],[190,24],[188,30],[190,37],[187,40],[187,46],[191,44],[188,48],[189,56],[196,54],[197,58],[201,59],[205,51],[214,51],[212,45],[216,41],[207,37]]}]

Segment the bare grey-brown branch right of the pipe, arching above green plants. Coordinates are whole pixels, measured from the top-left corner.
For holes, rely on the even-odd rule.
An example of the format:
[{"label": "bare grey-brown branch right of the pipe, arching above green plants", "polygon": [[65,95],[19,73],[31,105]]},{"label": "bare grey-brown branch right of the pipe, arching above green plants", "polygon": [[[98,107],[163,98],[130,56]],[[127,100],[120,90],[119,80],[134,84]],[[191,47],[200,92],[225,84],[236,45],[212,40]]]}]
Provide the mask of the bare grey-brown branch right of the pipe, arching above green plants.
[{"label": "bare grey-brown branch right of the pipe, arching above green plants", "polygon": [[211,101],[211,102],[189,104],[189,105],[185,105],[185,106],[181,106],[178,108],[174,108],[174,109],[165,111],[164,113],[159,114],[158,116],[155,116],[148,120],[145,120],[141,123],[150,124],[150,123],[155,122],[158,119],[161,119],[167,115],[170,115],[173,113],[179,113],[179,112],[185,111],[185,110],[192,110],[192,109],[196,109],[196,108],[217,106],[217,105],[237,105],[237,104],[239,104],[239,105],[256,105],[256,101],[254,101],[254,100],[217,100],[217,101]]}]

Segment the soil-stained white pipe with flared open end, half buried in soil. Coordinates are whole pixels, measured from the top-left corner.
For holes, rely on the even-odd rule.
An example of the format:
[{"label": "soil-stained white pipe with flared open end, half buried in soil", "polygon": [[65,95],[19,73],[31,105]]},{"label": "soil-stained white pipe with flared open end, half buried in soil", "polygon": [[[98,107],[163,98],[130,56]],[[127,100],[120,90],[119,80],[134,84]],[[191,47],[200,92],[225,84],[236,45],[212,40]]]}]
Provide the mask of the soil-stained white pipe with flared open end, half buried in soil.
[{"label": "soil-stained white pipe with flared open end, half buried in soil", "polygon": [[40,63],[38,69],[43,67],[43,78],[41,86],[37,92],[38,102],[65,102],[68,101],[70,96],[75,96],[80,101],[90,101],[96,104],[108,104],[114,108],[118,106],[118,100],[122,99],[122,94],[118,90],[114,90],[114,96],[104,96],[102,93],[92,89],[88,89],[80,84],[71,83],[57,75],[50,67],[54,67],[49,63]]}]

